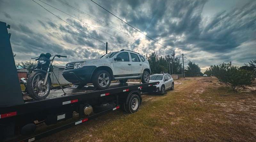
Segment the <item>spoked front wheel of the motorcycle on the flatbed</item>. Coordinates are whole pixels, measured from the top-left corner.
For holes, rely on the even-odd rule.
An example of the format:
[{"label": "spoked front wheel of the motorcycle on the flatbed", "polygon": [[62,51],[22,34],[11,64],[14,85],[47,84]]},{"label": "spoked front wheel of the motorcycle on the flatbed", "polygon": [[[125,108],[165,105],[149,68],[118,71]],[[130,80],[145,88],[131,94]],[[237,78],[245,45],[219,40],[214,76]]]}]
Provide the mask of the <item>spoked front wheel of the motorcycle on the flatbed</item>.
[{"label": "spoked front wheel of the motorcycle on the flatbed", "polygon": [[47,78],[45,85],[43,85],[44,78],[45,73],[42,71],[33,71],[28,76],[27,93],[31,98],[35,100],[43,100],[49,95],[51,90],[50,77]]}]

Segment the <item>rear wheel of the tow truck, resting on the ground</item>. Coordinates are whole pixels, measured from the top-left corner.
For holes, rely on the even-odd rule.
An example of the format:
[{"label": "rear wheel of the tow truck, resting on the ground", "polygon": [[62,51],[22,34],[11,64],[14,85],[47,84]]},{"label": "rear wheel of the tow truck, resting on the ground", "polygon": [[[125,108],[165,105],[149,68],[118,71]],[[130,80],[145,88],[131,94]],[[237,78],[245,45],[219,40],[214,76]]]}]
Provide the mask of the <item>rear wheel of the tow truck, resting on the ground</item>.
[{"label": "rear wheel of the tow truck, resting on the ground", "polygon": [[137,112],[140,108],[140,97],[137,94],[131,94],[124,108],[128,113]]}]

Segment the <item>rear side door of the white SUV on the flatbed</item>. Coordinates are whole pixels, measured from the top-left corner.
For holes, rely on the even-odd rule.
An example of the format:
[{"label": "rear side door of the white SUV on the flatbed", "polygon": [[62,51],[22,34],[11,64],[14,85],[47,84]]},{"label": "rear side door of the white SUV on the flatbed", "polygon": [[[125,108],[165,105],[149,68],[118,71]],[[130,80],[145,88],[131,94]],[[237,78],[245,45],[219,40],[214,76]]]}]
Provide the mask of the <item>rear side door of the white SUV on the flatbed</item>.
[{"label": "rear side door of the white SUV on the flatbed", "polygon": [[132,59],[132,76],[138,76],[142,73],[143,64],[140,57],[135,53],[130,53]]}]

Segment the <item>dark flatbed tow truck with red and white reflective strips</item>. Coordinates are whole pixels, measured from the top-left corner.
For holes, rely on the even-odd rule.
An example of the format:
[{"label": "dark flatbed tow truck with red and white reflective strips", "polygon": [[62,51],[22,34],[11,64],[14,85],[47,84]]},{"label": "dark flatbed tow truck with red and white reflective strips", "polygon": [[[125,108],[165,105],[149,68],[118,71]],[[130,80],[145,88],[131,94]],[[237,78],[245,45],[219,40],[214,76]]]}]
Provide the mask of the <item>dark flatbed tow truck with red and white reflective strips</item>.
[{"label": "dark flatbed tow truck with red and white reflective strips", "polygon": [[[7,28],[10,26],[0,22],[0,63],[3,65],[0,70],[0,142],[32,142],[119,108],[134,113],[140,107],[141,94],[154,92],[154,85],[159,83],[111,83],[105,90],[93,86],[81,89],[64,86],[65,96],[60,88],[53,87],[45,100],[28,99],[20,88]],[[64,123],[43,132],[36,131],[37,124],[59,122]]]}]

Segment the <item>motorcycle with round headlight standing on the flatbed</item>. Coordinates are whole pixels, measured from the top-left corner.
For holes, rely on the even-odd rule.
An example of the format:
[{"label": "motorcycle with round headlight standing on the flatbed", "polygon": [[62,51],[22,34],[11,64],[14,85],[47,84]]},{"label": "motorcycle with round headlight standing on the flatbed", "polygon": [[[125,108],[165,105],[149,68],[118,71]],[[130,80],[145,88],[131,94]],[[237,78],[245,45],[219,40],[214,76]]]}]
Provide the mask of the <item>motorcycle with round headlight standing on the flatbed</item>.
[{"label": "motorcycle with round headlight standing on the flatbed", "polygon": [[52,62],[55,57],[66,58],[67,56],[42,53],[39,57],[32,58],[36,59],[38,64],[36,68],[32,69],[32,73],[28,76],[27,80],[26,90],[31,98],[43,100],[49,95],[52,84],[50,74],[53,71]]}]

